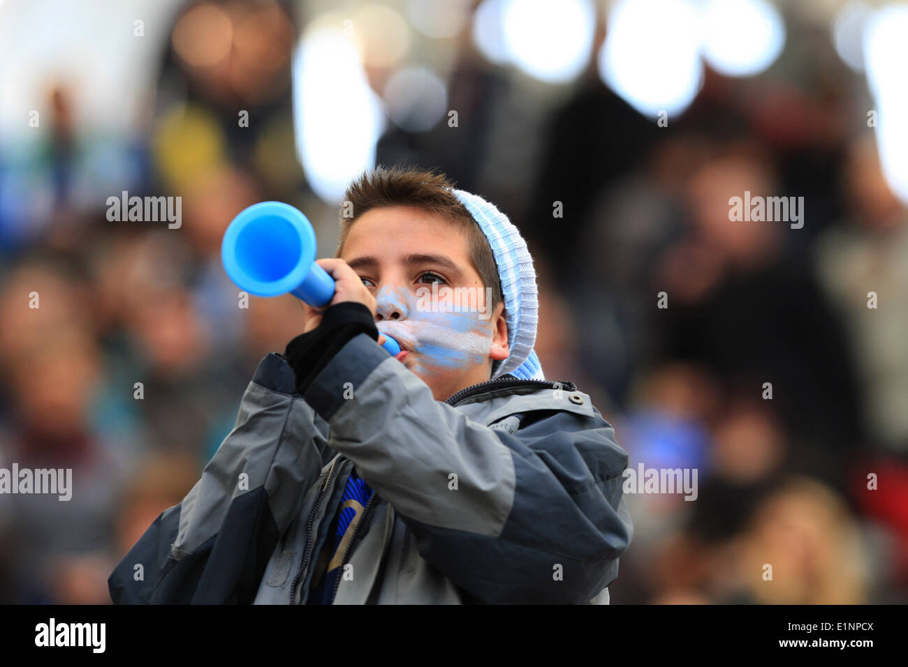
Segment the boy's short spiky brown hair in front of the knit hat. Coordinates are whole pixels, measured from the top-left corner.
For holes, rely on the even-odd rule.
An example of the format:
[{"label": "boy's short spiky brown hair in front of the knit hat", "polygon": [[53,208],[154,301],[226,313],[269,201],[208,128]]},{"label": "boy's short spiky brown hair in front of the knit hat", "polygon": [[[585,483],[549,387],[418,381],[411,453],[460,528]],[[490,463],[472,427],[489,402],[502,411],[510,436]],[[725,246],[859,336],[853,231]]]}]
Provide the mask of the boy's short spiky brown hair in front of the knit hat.
[{"label": "boy's short spiky brown hair in front of the knit hat", "polygon": [[[353,222],[366,211],[382,206],[413,206],[437,213],[459,225],[467,234],[469,260],[479,273],[483,287],[492,288],[492,302],[487,304],[487,308],[496,308],[504,300],[504,296],[495,255],[486,235],[479,229],[479,224],[451,191],[453,188],[454,183],[444,174],[428,170],[379,166],[363,172],[344,192],[345,201],[341,204],[341,239],[338,240],[334,256],[341,256]],[[352,211],[352,215],[349,211]]]}]

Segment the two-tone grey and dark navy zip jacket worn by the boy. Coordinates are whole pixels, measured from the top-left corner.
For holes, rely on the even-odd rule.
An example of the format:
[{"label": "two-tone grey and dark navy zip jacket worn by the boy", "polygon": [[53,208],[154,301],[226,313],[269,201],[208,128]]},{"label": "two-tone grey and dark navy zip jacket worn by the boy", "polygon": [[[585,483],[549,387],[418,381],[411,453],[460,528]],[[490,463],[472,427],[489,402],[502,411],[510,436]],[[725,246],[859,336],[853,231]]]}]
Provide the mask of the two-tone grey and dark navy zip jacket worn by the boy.
[{"label": "two-tone grey and dark navy zip jacket worn by the boy", "polygon": [[436,401],[366,334],[302,396],[294,379],[262,360],[201,479],[111,574],[114,603],[305,603],[354,466],[375,493],[333,603],[608,603],[627,452],[577,387],[506,376]]}]

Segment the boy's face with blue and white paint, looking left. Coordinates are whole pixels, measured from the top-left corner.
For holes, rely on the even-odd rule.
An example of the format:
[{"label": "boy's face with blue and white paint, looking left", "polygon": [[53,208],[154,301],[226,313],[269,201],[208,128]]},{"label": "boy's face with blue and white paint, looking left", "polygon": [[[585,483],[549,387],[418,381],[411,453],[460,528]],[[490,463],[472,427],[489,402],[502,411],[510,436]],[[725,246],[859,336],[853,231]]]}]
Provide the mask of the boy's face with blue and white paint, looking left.
[{"label": "boy's face with blue and white paint, looking left", "polygon": [[353,222],[341,252],[376,299],[376,326],[400,343],[400,362],[436,400],[485,382],[508,358],[504,304],[469,260],[467,234],[410,206],[371,209]]}]

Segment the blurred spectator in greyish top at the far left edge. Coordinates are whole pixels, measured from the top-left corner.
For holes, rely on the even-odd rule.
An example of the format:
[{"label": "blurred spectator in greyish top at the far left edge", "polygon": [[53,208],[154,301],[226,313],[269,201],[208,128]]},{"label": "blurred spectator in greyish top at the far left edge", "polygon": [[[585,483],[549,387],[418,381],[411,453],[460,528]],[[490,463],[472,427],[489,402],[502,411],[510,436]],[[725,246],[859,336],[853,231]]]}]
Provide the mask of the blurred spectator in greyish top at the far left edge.
[{"label": "blurred spectator in greyish top at the far left edge", "polygon": [[[0,466],[54,468],[70,479],[65,500],[47,493],[4,496],[18,545],[16,584],[35,602],[54,595],[39,592],[52,585],[47,583],[64,561],[90,559],[108,544],[114,488],[130,475],[136,448],[113,424],[95,419],[100,358],[75,274],[32,263],[7,278],[0,303],[10,317],[0,327],[0,341],[4,378],[15,391],[6,397]],[[30,292],[39,299],[35,309]]]}]

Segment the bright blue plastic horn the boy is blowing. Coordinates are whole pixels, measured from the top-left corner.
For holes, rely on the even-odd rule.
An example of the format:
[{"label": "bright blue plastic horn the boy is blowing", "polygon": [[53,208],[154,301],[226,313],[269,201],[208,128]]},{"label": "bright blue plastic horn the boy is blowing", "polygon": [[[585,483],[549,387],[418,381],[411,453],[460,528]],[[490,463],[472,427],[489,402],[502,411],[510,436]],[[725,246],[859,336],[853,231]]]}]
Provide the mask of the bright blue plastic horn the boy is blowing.
[{"label": "bright blue plastic horn the boy is blowing", "polygon": [[[244,209],[227,227],[221,244],[224,270],[237,287],[257,297],[290,292],[321,308],[334,297],[334,279],[315,263],[315,232],[305,215],[281,201]],[[391,355],[400,345],[388,335]]]}]

